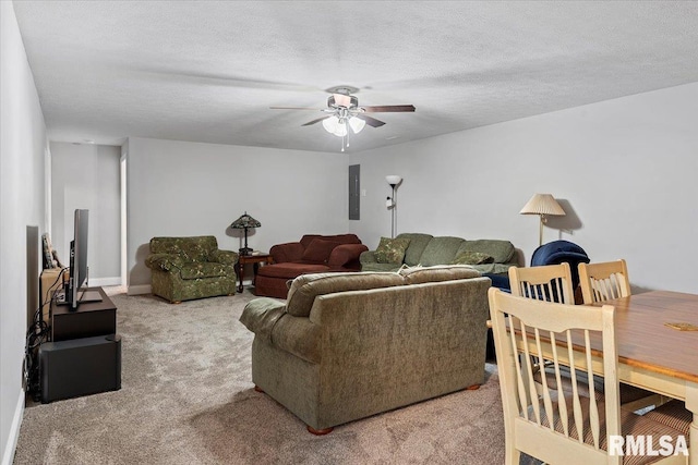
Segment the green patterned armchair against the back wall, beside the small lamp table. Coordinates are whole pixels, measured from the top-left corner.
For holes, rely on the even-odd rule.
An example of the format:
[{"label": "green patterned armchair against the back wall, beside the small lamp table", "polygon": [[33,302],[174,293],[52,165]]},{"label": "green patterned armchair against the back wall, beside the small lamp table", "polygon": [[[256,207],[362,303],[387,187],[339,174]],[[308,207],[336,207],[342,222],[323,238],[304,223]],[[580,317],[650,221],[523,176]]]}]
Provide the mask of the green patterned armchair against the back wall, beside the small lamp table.
[{"label": "green patterned armchair against the back wall, beside the small lamp table", "polygon": [[236,293],[238,254],[219,250],[213,235],[153,237],[145,265],[155,295],[172,303]]}]

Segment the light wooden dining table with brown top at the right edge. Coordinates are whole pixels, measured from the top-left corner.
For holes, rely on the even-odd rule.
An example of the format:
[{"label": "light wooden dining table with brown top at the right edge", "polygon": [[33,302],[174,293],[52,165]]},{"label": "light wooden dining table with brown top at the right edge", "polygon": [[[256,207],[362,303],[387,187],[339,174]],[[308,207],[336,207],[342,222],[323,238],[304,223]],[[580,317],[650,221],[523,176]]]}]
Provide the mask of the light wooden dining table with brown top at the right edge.
[{"label": "light wooden dining table with brown top at the right edge", "polygon": [[[698,327],[698,295],[652,291],[593,305],[615,307],[618,379],[684,401],[694,414],[689,450],[698,451],[698,331],[665,325]],[[698,452],[689,463],[698,465]]]}]

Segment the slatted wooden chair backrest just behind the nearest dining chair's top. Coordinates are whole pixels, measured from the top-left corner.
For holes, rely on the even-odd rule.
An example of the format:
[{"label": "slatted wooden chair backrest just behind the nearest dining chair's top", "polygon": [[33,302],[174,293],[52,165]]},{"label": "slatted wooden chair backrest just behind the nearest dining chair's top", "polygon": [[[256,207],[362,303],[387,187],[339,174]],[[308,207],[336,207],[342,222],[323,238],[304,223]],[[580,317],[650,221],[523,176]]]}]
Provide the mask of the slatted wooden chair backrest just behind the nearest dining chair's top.
[{"label": "slatted wooden chair backrest just behind the nearest dining chair's top", "polygon": [[574,305],[575,291],[568,262],[544,267],[509,268],[512,294],[537,301]]}]

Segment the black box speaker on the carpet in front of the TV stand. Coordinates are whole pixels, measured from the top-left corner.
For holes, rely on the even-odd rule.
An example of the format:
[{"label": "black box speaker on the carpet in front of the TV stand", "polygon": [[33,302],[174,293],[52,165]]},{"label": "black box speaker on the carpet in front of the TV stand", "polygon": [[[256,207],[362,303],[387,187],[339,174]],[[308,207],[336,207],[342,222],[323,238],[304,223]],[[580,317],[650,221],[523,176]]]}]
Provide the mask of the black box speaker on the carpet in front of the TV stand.
[{"label": "black box speaker on the carpet in front of the TV stand", "polygon": [[44,403],[121,389],[121,336],[41,344],[39,378]]}]

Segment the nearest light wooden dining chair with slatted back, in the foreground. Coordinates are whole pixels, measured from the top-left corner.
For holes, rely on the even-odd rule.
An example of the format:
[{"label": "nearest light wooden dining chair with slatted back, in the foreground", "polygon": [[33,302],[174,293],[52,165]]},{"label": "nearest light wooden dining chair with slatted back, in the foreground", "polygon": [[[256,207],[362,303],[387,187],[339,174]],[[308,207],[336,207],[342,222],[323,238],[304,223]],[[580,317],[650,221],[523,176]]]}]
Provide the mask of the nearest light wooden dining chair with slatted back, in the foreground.
[{"label": "nearest light wooden dining chair with slatted back, in the foreground", "polygon": [[[682,435],[678,429],[621,409],[613,306],[571,307],[537,302],[496,287],[490,289],[489,299],[504,407],[507,465],[518,464],[521,453],[553,465],[619,465],[624,456],[607,451],[611,436],[645,435],[649,440],[647,435],[652,435],[653,450],[658,450],[662,436],[670,436],[672,443],[676,443]],[[592,339],[602,341],[601,352],[592,351]],[[544,348],[545,340],[551,342],[547,348]],[[531,366],[521,362],[528,359],[531,352],[543,354],[543,359],[554,367],[558,382],[563,364],[570,367],[570,393],[558,395],[545,378],[542,392],[534,389]],[[520,353],[525,356],[519,357]],[[603,360],[599,364],[593,357]],[[605,395],[600,400],[582,396],[582,386],[593,389],[599,376],[604,377]],[[640,458],[662,460],[652,463],[678,463],[677,458],[684,458],[685,463],[686,457],[670,456],[669,462],[662,456]]]}]

